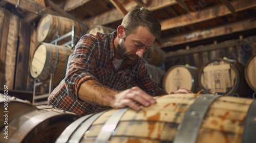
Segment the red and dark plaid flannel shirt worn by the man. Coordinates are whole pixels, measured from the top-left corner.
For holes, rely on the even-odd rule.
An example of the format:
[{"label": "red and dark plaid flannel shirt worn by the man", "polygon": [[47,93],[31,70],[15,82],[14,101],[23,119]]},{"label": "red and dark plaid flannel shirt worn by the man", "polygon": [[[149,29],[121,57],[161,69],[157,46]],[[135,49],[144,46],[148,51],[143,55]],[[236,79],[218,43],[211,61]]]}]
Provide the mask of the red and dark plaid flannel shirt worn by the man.
[{"label": "red and dark plaid flannel shirt worn by the man", "polygon": [[122,63],[118,70],[114,67],[114,39],[111,34],[96,33],[81,37],[70,55],[66,77],[53,90],[48,105],[71,111],[78,115],[87,115],[111,107],[89,104],[78,98],[80,85],[94,79],[102,85],[115,90],[125,90],[129,85],[138,86],[151,96],[164,92],[147,75],[142,59],[133,64]]}]

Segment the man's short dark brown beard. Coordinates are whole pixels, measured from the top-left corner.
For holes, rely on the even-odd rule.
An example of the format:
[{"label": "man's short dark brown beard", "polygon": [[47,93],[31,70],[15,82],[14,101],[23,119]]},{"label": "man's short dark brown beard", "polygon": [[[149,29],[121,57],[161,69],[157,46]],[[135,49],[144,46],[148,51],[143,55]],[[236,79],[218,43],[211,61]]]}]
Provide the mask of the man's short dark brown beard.
[{"label": "man's short dark brown beard", "polygon": [[140,59],[140,57],[132,52],[127,52],[127,48],[124,45],[125,38],[117,45],[119,54],[122,60],[128,64],[134,63],[136,60]]}]

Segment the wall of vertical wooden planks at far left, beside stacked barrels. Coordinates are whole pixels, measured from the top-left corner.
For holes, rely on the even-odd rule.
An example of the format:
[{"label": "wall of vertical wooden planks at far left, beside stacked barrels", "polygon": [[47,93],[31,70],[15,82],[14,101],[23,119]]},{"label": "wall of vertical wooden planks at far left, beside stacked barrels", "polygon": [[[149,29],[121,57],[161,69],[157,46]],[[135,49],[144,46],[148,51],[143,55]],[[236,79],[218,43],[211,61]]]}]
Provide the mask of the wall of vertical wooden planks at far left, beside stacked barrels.
[{"label": "wall of vertical wooden planks at far left, beside stacked barrels", "polygon": [[0,7],[0,89],[33,91],[29,73],[36,47],[36,30],[30,23]]}]

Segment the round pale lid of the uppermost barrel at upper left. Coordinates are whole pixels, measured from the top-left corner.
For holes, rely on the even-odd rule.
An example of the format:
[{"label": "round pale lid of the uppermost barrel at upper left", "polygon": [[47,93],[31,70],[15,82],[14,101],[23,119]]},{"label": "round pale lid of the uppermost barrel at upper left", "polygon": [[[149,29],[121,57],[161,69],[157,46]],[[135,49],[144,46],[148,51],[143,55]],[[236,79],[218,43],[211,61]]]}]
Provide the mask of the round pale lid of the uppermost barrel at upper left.
[{"label": "round pale lid of the uppermost barrel at upper left", "polygon": [[43,42],[50,30],[50,26],[52,23],[52,19],[51,19],[51,15],[46,14],[45,16],[43,16],[38,24],[38,28],[37,28],[37,40],[39,42]]}]

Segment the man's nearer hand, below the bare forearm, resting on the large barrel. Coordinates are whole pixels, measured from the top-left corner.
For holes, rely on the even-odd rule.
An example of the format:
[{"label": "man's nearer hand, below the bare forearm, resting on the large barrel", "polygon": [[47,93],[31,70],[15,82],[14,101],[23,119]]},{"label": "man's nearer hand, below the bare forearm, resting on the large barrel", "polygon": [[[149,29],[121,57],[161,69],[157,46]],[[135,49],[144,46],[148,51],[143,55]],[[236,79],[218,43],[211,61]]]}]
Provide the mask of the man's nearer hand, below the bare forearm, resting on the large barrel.
[{"label": "man's nearer hand, below the bare forearm, resting on the large barrel", "polygon": [[147,94],[145,91],[139,87],[133,87],[119,92],[115,95],[115,100],[111,104],[114,109],[123,108],[126,106],[131,107],[134,110],[140,110],[140,107],[137,103],[140,103],[143,106],[150,106],[151,104],[156,103],[156,100]]}]

